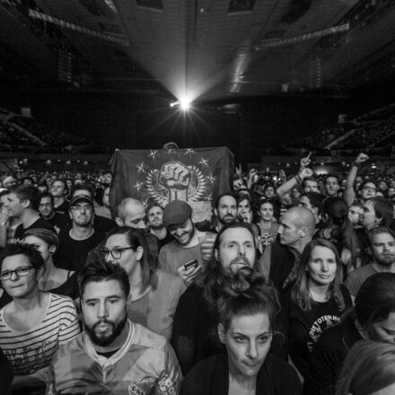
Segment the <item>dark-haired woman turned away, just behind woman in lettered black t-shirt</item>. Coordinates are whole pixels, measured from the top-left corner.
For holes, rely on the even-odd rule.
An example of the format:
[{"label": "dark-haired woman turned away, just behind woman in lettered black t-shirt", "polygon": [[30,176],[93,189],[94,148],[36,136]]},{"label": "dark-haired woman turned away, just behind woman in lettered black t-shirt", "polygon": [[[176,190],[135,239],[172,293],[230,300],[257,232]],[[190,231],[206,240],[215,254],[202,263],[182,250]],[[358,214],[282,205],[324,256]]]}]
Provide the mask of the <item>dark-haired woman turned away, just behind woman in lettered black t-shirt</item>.
[{"label": "dark-haired woman turned away, just behind woman in lettered black t-shirt", "polygon": [[326,198],[322,202],[321,216],[327,227],[320,230],[320,238],[335,244],[347,275],[361,266],[360,246],[353,224],[348,219],[347,203],[342,198]]}]

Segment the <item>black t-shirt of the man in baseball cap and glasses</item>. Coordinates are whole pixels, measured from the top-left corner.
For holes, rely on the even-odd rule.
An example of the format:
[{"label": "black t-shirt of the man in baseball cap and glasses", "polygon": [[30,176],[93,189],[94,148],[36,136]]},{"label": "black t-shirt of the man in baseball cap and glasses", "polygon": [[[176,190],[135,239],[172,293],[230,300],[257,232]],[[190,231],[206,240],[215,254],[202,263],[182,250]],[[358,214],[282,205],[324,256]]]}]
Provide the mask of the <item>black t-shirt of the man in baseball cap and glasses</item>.
[{"label": "black t-shirt of the man in baseball cap and glasses", "polygon": [[90,250],[103,241],[106,233],[94,231],[84,240],[75,240],[70,237],[70,231],[59,233],[60,248],[57,254],[56,265],[58,268],[79,271],[85,266],[85,261]]}]

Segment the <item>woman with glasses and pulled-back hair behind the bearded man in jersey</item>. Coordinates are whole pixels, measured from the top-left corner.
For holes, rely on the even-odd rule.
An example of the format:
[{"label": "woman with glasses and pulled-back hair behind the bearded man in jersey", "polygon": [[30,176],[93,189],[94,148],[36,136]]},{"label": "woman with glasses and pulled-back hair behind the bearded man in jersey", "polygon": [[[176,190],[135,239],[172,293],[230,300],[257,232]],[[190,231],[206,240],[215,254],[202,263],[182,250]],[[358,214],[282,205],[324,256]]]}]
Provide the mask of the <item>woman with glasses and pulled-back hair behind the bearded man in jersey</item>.
[{"label": "woman with glasses and pulled-back hair behind the bearded man in jersey", "polygon": [[128,226],[112,231],[101,249],[101,257],[119,263],[127,271],[130,320],[171,338],[173,315],[186,286],[179,277],[155,269],[143,231]]}]

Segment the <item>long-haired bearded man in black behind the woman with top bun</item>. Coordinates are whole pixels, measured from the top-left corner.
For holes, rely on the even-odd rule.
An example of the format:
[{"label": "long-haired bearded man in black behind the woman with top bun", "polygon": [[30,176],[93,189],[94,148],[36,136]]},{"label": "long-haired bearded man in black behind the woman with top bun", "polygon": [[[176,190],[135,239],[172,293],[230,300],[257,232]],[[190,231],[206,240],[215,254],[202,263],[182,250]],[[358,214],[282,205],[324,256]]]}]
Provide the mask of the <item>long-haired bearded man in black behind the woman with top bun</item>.
[{"label": "long-haired bearded man in black behind the woman with top bun", "polygon": [[252,224],[225,225],[214,243],[211,260],[197,284],[181,295],[174,314],[171,344],[179,359],[182,373],[221,350],[215,341],[216,313],[210,309],[218,298],[224,278],[246,268],[258,269],[256,243]]}]

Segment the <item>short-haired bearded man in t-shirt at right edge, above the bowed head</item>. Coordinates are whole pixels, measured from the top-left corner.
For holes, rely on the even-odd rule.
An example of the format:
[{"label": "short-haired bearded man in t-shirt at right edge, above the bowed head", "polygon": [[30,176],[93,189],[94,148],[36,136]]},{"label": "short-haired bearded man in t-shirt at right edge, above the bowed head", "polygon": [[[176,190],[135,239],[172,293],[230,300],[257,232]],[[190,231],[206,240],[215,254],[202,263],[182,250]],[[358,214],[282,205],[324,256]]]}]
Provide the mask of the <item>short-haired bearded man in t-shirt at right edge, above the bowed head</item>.
[{"label": "short-haired bearded man in t-shirt at right edge, above the bowed head", "polygon": [[373,228],[369,233],[373,262],[351,272],[345,285],[355,298],[366,278],[376,273],[395,273],[395,233],[384,226]]}]

